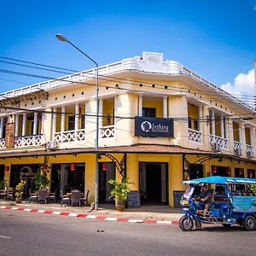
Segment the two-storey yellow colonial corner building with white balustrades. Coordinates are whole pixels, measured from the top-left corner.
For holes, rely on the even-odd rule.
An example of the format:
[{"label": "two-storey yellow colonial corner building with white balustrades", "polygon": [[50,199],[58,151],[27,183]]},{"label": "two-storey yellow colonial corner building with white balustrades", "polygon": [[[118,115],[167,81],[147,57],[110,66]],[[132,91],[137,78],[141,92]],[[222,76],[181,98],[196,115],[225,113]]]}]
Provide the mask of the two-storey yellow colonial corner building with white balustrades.
[{"label": "two-storey yellow colonial corner building with white balustrades", "polygon": [[[129,177],[142,204],[177,206],[184,179],[255,177],[255,111],[160,53],[99,67],[99,200]],[[0,179],[50,190],[96,184],[96,69],[0,95]]]}]

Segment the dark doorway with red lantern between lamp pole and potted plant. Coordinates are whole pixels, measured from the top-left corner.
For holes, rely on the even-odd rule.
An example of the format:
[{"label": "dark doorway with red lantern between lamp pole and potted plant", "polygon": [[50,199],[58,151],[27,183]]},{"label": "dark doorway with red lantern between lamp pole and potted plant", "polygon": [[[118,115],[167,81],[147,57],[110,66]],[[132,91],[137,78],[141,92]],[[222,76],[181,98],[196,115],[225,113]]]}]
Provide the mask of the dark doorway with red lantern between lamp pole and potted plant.
[{"label": "dark doorway with red lantern between lamp pole and potted plant", "polygon": [[112,189],[112,185],[108,183],[109,179],[115,179],[114,163],[99,163],[99,202],[101,204],[113,201],[109,199]]}]

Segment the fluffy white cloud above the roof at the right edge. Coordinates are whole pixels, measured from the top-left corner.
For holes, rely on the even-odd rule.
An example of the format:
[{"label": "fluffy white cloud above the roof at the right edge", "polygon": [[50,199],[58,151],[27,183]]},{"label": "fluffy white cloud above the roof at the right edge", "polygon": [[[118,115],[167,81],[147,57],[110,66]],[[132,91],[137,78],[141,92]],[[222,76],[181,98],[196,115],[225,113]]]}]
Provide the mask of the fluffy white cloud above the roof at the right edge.
[{"label": "fluffy white cloud above the roof at the right edge", "polygon": [[254,70],[250,70],[248,73],[239,73],[233,84],[228,82],[222,84],[220,87],[223,90],[228,91],[232,95],[237,96],[254,96],[255,95],[255,81]]}]

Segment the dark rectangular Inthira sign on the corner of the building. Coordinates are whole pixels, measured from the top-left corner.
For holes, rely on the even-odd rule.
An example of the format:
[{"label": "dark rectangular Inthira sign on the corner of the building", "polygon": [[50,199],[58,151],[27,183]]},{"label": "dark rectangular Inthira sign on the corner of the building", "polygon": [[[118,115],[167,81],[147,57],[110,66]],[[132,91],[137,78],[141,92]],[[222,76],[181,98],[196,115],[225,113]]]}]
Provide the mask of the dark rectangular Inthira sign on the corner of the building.
[{"label": "dark rectangular Inthira sign on the corner of the building", "polygon": [[135,136],[173,137],[173,119],[135,117]]}]

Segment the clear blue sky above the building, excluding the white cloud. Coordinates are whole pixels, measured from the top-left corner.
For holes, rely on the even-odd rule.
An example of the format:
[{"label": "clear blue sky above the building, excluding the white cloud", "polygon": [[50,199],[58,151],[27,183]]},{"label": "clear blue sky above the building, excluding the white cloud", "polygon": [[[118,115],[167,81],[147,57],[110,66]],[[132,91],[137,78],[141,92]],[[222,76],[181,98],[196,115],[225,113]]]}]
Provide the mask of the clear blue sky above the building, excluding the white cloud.
[{"label": "clear blue sky above the building, excluding the white cloud", "polygon": [[[226,85],[227,90],[245,90],[241,81],[236,86],[239,74],[252,83],[254,0],[2,0],[1,10],[3,57],[75,70],[93,67],[78,51],[55,38],[61,32],[99,65],[155,51],[217,85]],[[3,62],[0,69],[43,74]],[[0,72],[0,92],[43,80]]]}]

